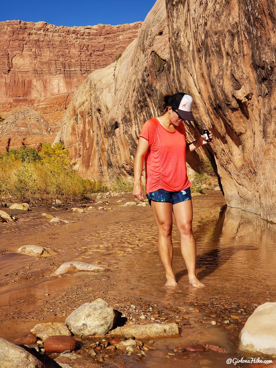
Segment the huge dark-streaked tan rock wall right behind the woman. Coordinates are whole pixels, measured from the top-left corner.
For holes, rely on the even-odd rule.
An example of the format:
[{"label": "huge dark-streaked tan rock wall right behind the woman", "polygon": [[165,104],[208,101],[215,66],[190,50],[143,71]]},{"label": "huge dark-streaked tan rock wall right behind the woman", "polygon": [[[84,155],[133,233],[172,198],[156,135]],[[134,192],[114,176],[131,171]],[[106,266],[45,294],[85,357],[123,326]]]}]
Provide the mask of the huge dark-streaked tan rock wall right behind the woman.
[{"label": "huge dark-streaked tan rock wall right behind the woman", "polygon": [[276,222],[273,9],[270,0],[158,0],[121,58],[79,86],[56,141],[89,177],[133,174],[142,124],[162,113],[166,93],[184,91],[197,121],[187,140],[202,122],[215,135],[188,164],[214,155],[227,204]]}]

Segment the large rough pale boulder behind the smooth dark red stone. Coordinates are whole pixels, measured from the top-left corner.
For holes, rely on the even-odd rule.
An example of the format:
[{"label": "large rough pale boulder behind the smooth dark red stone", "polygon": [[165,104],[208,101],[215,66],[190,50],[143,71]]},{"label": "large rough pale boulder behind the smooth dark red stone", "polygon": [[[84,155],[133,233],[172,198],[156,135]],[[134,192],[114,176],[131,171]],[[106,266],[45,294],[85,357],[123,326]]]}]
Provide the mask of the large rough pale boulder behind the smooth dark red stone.
[{"label": "large rough pale boulder behind the smooth dark red stone", "polygon": [[84,303],[75,309],[65,320],[72,333],[78,335],[106,335],[113,327],[116,315],[101,298],[92,303]]}]

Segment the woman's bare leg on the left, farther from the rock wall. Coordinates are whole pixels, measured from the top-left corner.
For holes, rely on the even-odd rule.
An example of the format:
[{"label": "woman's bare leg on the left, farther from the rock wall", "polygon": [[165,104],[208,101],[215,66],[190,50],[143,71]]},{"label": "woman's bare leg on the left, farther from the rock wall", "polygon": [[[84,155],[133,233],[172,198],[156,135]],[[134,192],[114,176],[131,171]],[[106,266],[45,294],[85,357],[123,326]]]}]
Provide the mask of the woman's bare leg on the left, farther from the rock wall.
[{"label": "woman's bare leg on the left, farther from the rock wall", "polygon": [[173,243],[171,242],[173,205],[169,202],[155,202],[152,200],[151,207],[158,226],[158,250],[167,277],[165,286],[176,286],[177,282],[172,268]]}]

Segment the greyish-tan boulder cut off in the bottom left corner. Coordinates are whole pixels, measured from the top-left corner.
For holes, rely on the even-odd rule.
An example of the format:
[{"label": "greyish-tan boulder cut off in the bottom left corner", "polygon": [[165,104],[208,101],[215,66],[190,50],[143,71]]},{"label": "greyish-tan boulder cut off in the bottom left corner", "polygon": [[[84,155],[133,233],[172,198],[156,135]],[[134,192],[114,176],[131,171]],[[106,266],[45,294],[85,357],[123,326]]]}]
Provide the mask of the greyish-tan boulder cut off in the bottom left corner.
[{"label": "greyish-tan boulder cut off in the bottom left corner", "polygon": [[21,346],[17,346],[0,337],[0,367],[45,368],[45,365]]}]

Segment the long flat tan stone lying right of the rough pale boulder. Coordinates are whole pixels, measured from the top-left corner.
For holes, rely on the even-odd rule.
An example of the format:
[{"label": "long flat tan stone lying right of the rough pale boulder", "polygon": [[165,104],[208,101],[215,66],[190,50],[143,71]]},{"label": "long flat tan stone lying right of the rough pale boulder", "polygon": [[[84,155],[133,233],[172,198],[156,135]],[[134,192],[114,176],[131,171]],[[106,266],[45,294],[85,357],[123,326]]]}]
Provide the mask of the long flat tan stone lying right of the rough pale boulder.
[{"label": "long flat tan stone lying right of the rough pale boulder", "polygon": [[162,336],[179,336],[176,323],[152,323],[149,325],[127,325],[110,331],[110,337],[135,336],[136,339],[149,339]]}]

